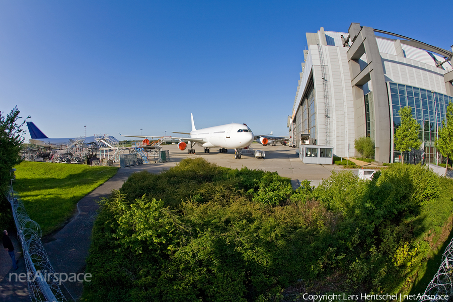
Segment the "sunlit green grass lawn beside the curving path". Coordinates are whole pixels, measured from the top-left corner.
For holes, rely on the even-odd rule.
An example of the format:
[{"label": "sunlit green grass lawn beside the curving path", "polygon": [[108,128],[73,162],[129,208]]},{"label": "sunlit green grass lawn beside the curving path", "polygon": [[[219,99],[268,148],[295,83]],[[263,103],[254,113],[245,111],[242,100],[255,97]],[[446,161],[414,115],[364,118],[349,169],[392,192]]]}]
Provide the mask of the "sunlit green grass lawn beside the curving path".
[{"label": "sunlit green grass lawn beside the curving path", "polygon": [[43,235],[69,218],[77,202],[116,174],[118,168],[22,162],[15,167],[18,192]]}]

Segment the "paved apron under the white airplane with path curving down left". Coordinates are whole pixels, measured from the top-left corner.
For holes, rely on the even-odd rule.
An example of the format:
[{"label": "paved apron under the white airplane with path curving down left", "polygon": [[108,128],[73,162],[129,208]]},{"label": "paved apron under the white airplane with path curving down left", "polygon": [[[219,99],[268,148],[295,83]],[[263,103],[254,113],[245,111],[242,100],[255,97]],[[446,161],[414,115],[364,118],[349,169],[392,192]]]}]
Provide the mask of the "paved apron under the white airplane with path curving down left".
[{"label": "paved apron under the white airplane with path curving down left", "polygon": [[[159,173],[176,166],[185,158],[202,157],[209,162],[232,169],[247,167],[252,170],[276,171],[280,176],[290,178],[293,187],[297,187],[297,184],[303,180],[310,180],[311,185],[317,186],[323,179],[328,178],[332,171],[343,170],[343,168],[335,165],[304,164],[298,159],[295,148],[288,146],[262,146],[257,143],[252,146],[255,149],[264,150],[265,158],[256,159],[252,154],[244,154],[241,159],[235,159],[232,149],[229,149],[228,153],[218,153],[218,150],[211,149],[211,152],[207,154],[204,153],[204,148],[199,146],[194,147],[195,154],[188,154],[187,149],[181,151],[177,145],[164,145],[163,149],[170,151],[169,162],[118,169],[115,176],[79,201],[76,213],[58,232],[42,239],[55,272],[68,275],[85,272],[85,259],[88,256],[91,244],[91,231],[99,208],[97,201],[102,197],[108,197],[112,190],[121,188],[122,184],[134,172],[146,170],[150,173]],[[9,233],[15,247],[16,259],[19,260],[19,269],[16,271],[12,269],[10,256],[2,250],[0,252],[0,300],[5,302],[29,301],[27,282],[15,281],[14,278],[14,273],[26,273],[26,269],[17,236],[13,230],[9,230]],[[12,278],[10,278],[11,273],[13,273]],[[61,285],[61,290],[67,300],[77,300],[82,295],[83,283],[66,281]]]}]

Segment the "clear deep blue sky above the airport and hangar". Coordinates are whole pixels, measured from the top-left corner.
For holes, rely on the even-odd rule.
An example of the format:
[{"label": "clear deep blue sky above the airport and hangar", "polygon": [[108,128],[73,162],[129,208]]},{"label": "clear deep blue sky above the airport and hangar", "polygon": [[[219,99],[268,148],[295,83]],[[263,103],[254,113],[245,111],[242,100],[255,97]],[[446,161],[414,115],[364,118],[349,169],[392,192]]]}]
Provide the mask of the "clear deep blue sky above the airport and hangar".
[{"label": "clear deep blue sky above the airport and hangar", "polygon": [[[347,7],[349,5],[349,7]],[[421,1],[0,0],[0,111],[49,137],[163,135],[224,123],[286,135],[306,32],[351,22],[450,50]]]}]

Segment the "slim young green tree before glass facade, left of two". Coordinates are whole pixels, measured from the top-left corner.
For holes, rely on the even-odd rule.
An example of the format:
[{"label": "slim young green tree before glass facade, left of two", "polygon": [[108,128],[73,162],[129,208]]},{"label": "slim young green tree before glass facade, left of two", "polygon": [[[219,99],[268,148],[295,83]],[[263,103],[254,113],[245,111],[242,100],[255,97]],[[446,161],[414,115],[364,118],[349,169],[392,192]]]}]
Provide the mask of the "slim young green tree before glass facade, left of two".
[{"label": "slim young green tree before glass facade, left of two", "polygon": [[401,117],[401,125],[395,132],[395,148],[401,151],[401,164],[404,162],[403,152],[412,148],[418,149],[421,141],[418,138],[420,124],[412,117],[412,108],[403,107],[398,111]]}]

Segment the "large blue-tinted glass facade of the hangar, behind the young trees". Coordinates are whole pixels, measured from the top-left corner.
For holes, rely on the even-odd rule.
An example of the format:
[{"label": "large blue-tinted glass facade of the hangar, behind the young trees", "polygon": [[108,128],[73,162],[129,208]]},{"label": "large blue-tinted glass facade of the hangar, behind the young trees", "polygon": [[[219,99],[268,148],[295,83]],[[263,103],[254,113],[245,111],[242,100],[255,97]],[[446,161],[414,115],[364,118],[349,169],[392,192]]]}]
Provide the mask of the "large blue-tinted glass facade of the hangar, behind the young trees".
[{"label": "large blue-tinted glass facade of the hangar, behind the young trees", "polygon": [[434,147],[434,140],[437,137],[437,130],[442,126],[446,106],[448,102],[453,102],[453,98],[425,89],[391,82],[388,83],[388,95],[392,137],[391,162],[401,161],[401,153],[395,150],[393,135],[401,123],[398,111],[405,106],[412,108],[412,117],[420,125],[419,138],[422,141],[422,150],[405,152],[403,155],[404,162],[418,163],[422,161],[423,163],[435,164],[440,161],[440,155],[437,154]]}]

